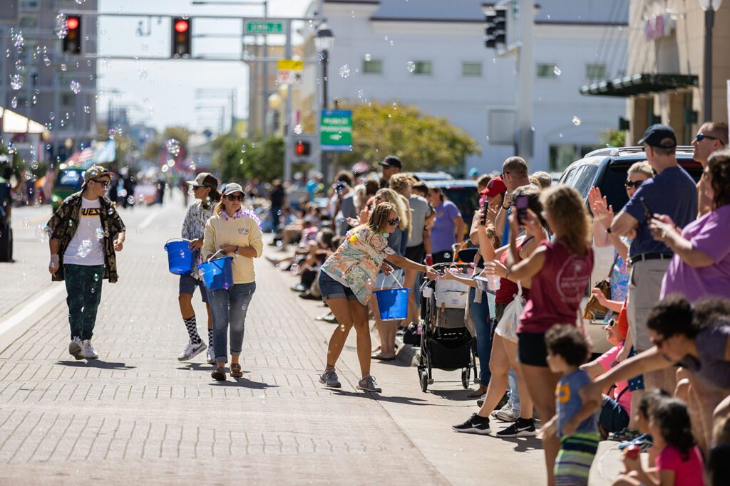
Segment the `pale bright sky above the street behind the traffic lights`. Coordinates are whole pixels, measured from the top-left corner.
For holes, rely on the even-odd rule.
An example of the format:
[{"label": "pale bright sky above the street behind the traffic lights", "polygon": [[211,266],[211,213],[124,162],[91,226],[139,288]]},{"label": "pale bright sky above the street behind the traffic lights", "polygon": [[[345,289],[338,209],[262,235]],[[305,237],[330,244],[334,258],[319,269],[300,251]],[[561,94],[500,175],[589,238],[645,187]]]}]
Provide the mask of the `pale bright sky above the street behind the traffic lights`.
[{"label": "pale bright sky above the street behind the traffic lights", "polygon": [[[218,1],[231,2],[234,0]],[[248,0],[250,1],[250,0]],[[304,14],[310,0],[269,0],[269,16],[296,17]],[[260,17],[261,5],[193,6],[191,0],[99,0],[99,12],[189,15],[193,34],[231,34],[224,38],[193,39],[193,55],[235,56],[241,52],[240,20],[197,19],[196,15]],[[142,35],[137,34],[142,20]],[[169,17],[99,17],[98,85],[99,111],[110,99],[115,106],[128,106],[131,122],[158,128],[188,125],[191,130],[218,130],[220,107],[228,93],[237,90],[237,117],[247,115],[248,68],[242,62],[169,59]],[[149,34],[149,35],[147,35]],[[274,39],[275,40],[275,39]],[[152,57],[160,60],[119,60],[115,55]],[[109,56],[107,59],[106,56]],[[275,69],[275,66],[272,68]],[[201,93],[205,90],[205,93]],[[212,96],[207,96],[213,91]],[[200,107],[201,109],[196,109]]]}]

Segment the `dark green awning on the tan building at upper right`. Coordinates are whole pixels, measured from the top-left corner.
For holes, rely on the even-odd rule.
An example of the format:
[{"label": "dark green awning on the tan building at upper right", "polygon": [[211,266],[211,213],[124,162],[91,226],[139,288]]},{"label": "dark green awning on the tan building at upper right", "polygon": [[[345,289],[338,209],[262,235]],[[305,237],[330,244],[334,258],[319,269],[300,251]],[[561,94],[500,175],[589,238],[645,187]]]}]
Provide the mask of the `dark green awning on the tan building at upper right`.
[{"label": "dark green awning on the tan building at upper right", "polygon": [[580,94],[625,98],[698,85],[699,78],[694,74],[633,74],[583,85],[580,87]]}]

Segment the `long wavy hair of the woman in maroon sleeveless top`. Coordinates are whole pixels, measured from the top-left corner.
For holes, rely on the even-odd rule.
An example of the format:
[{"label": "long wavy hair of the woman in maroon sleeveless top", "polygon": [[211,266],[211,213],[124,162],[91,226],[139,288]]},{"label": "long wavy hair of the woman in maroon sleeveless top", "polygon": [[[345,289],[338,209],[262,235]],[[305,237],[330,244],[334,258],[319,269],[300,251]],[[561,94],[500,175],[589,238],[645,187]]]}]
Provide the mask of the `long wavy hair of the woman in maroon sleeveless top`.
[{"label": "long wavy hair of the woman in maroon sleeveless top", "polygon": [[571,253],[584,256],[591,246],[591,221],[580,193],[565,185],[549,187],[540,201],[550,215],[550,231],[556,241]]}]

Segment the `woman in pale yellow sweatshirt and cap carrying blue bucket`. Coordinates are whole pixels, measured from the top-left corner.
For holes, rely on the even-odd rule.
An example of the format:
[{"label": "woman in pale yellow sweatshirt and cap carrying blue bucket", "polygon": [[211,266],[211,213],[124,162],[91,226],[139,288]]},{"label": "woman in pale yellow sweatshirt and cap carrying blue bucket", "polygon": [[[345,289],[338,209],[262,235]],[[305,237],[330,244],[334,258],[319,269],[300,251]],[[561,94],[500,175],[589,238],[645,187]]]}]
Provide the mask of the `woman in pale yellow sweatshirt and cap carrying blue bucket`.
[{"label": "woman in pale yellow sweatshirt and cap carrying blue bucket", "polygon": [[231,327],[231,377],[243,376],[239,355],[243,346],[246,311],[256,289],[253,259],[261,256],[264,245],[258,218],[242,208],[244,193],[239,184],[226,184],[220,203],[205,224],[203,259],[215,253],[233,256],[233,285],[209,291],[213,314],[213,350],[216,369],[211,377],[226,380],[228,326]]}]

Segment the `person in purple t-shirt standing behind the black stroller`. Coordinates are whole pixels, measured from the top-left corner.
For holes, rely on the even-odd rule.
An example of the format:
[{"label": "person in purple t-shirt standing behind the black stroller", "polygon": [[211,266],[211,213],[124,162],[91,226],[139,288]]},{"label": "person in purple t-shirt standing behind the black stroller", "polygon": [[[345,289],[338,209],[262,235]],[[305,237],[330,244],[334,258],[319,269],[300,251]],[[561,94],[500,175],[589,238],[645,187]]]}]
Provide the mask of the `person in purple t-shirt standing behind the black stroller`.
[{"label": "person in purple t-shirt standing behind the black stroller", "polygon": [[431,254],[434,263],[453,261],[453,245],[464,241],[465,224],[456,204],[446,200],[440,187],[429,188],[429,203],[436,209],[431,228]]}]

